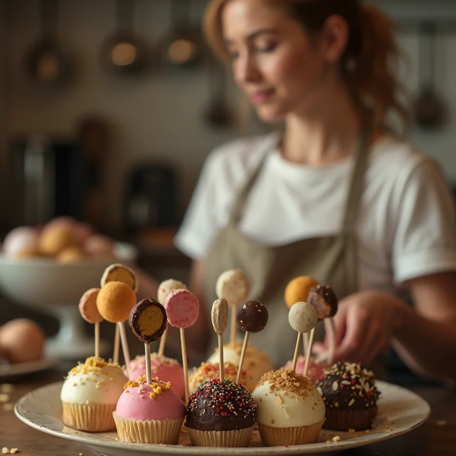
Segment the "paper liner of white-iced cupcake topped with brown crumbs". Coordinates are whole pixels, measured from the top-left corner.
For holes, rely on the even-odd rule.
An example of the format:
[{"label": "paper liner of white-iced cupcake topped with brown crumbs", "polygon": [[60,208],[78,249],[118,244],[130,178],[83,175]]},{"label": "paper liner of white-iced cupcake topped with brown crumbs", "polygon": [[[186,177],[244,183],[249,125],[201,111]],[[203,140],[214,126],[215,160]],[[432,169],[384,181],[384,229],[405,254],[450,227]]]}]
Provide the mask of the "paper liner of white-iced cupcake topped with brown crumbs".
[{"label": "paper liner of white-iced cupcake topped with brown crumbs", "polygon": [[306,445],[318,442],[323,423],[324,419],[320,423],[295,428],[273,428],[258,424],[258,430],[263,445],[268,447]]}]

